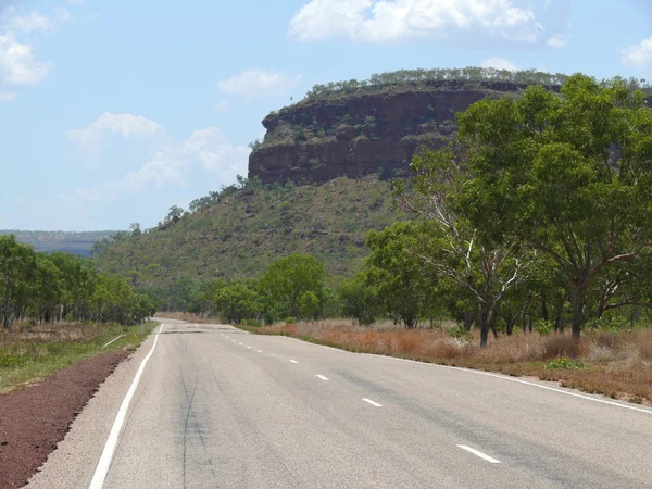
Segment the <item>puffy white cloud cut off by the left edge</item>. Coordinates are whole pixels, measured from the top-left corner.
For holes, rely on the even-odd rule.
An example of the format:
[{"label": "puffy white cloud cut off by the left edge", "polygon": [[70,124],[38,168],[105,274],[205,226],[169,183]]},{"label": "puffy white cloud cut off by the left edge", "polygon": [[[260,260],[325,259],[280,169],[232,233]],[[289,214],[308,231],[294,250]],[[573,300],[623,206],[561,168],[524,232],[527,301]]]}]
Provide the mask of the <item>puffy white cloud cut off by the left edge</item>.
[{"label": "puffy white cloud cut off by the left edge", "polygon": [[13,33],[0,34],[0,76],[8,85],[36,85],[52,67],[34,58],[32,46],[18,42]]}]

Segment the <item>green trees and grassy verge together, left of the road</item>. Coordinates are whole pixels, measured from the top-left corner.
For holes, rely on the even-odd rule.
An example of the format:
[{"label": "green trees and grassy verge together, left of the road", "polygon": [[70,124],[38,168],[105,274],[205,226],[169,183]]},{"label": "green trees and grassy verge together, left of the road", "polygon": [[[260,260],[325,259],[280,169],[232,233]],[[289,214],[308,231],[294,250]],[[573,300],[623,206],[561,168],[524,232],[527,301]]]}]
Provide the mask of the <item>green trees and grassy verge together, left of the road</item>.
[{"label": "green trees and grassy verge together, left of the road", "polygon": [[88,356],[136,348],[151,331],[154,323],[142,324],[154,311],[126,278],[0,236],[0,392]]}]

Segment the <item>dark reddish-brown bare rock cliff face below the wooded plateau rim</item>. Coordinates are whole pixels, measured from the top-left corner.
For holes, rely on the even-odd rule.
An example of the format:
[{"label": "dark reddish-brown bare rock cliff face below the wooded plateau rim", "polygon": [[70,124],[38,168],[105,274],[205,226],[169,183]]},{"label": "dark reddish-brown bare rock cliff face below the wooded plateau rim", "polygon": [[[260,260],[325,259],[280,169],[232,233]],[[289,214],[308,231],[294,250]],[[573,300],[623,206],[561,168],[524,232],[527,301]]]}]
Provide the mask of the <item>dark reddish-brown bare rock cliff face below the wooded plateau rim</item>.
[{"label": "dark reddish-brown bare rock cliff face below the wooded plateau rim", "polygon": [[487,97],[517,97],[526,86],[455,83],[392,89],[330,100],[306,100],[269,114],[265,141],[249,160],[263,183],[317,183],[369,173],[400,175],[417,149],[439,148],[456,130],[455,112]]}]

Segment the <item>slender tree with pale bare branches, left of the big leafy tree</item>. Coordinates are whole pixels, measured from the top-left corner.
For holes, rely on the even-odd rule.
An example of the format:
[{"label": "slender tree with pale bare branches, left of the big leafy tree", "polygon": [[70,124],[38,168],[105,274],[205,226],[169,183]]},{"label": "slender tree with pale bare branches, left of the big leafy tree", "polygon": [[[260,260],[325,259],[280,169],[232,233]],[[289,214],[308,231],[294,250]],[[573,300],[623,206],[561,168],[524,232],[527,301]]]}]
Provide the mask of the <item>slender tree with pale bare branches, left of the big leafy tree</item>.
[{"label": "slender tree with pale bare branches, left of the big leafy tree", "polygon": [[415,191],[398,183],[397,195],[422,223],[421,239],[412,253],[421,259],[422,266],[430,267],[471,296],[484,348],[500,301],[523,280],[531,258],[523,260],[515,239],[496,239],[455,206],[455,196],[469,180],[466,160],[467,153],[460,146],[423,150],[411,164],[416,172]]}]

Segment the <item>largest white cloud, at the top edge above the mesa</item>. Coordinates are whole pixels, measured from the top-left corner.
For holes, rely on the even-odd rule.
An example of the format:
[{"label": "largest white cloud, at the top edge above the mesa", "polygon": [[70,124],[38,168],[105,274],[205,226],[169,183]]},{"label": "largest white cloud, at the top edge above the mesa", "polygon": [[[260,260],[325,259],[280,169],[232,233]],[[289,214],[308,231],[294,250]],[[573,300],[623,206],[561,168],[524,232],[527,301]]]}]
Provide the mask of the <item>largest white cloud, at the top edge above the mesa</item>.
[{"label": "largest white cloud, at the top edge above the mesa", "polygon": [[[544,27],[518,0],[311,0],[290,21],[300,42],[392,42],[455,32],[536,42]],[[523,2],[521,2],[523,3]]]}]

